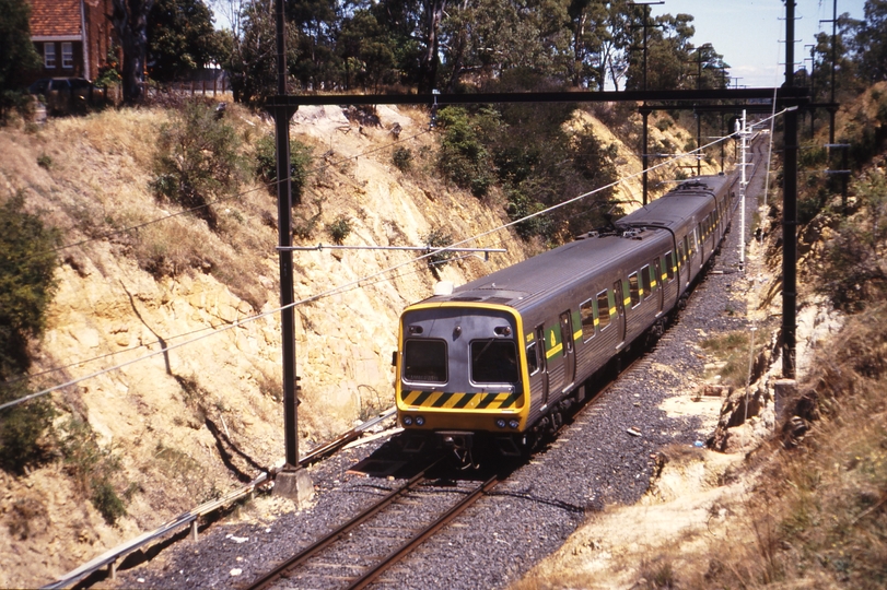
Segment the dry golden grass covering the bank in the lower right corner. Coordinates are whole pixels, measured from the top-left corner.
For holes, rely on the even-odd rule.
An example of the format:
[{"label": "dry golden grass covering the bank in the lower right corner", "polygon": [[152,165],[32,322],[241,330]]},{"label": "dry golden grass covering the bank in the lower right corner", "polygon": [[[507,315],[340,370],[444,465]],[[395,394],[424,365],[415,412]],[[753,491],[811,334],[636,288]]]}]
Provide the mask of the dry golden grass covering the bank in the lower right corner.
[{"label": "dry golden grass covering the bank in the lower right corner", "polygon": [[711,547],[705,575],[680,588],[887,586],[885,352],[880,307],[818,358],[794,412],[818,420],[802,440],[774,440],[759,453],[774,460],[746,502],[747,519],[732,543]]}]

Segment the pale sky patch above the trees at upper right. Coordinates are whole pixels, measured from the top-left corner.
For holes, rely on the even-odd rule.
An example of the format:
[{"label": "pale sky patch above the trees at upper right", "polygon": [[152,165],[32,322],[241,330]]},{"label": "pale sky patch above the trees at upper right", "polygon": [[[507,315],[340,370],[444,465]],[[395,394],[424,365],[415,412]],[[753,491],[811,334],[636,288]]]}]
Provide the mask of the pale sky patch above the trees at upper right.
[{"label": "pale sky patch above the trees at upper right", "polygon": [[[647,0],[638,0],[647,1]],[[865,0],[838,0],[838,14],[864,17]],[[795,69],[809,58],[809,47],[820,31],[831,34],[835,0],[796,0]],[[692,14],[693,45],[711,43],[731,66],[731,84],[748,87],[779,86],[785,80],[785,3],[783,0],[665,0],[651,5],[650,14]],[[807,62],[809,63],[809,61]]]}]

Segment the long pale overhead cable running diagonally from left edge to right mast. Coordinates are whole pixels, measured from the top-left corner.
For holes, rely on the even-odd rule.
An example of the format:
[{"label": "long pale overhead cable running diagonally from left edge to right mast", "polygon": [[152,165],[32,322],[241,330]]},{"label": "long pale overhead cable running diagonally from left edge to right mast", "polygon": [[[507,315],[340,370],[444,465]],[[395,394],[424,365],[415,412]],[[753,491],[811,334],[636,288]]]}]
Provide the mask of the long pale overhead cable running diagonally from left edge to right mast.
[{"label": "long pale overhead cable running diagonally from left edge to right mast", "polygon": [[[791,108],[791,107],[790,107],[790,108]],[[786,113],[787,110],[789,110],[789,109],[783,109],[783,110],[780,110],[779,113],[773,114],[771,117],[768,117],[767,119],[763,119],[763,120],[762,120],[762,121],[760,121],[760,122],[767,122],[767,121],[769,121],[771,118],[779,117],[779,116],[783,115],[784,113]],[[692,154],[693,154],[693,153],[696,153],[696,152],[701,152],[702,150],[705,150],[705,149],[708,149],[708,148],[710,148],[710,146],[712,146],[712,145],[716,145],[716,144],[717,144],[717,143],[720,143],[721,141],[726,141],[726,140],[728,140],[728,139],[733,138],[734,135],[736,135],[736,132],[730,133],[730,134],[724,135],[724,137],[719,138],[719,139],[715,139],[715,140],[714,140],[714,141],[712,141],[712,142],[709,142],[709,143],[707,143],[707,144],[704,144],[704,145],[700,145],[700,146],[699,146],[699,148],[697,148],[696,150],[692,150],[692,151],[688,152],[686,155],[692,155]],[[686,156],[685,156],[685,157],[686,157]],[[655,169],[661,168],[661,167],[665,167],[665,166],[667,166],[668,164],[672,164],[673,162],[675,162],[676,160],[678,160],[678,158],[672,158],[672,160],[668,160],[668,161],[665,161],[665,162],[661,162],[660,164],[656,164],[656,165],[651,166],[650,168],[647,168],[647,172],[649,172],[649,170],[655,170]],[[210,332],[210,333],[208,333],[208,334],[203,334],[203,335],[200,335],[200,337],[197,337],[197,338],[194,338],[194,339],[187,340],[187,341],[185,341],[185,342],[179,342],[178,344],[172,344],[172,345],[165,346],[165,347],[163,347],[163,349],[161,349],[161,350],[159,350],[159,351],[153,351],[153,352],[151,352],[150,354],[145,354],[145,355],[143,355],[143,356],[140,356],[140,357],[138,357],[138,358],[133,358],[133,359],[131,359],[131,361],[127,361],[127,362],[125,362],[125,363],[120,363],[120,364],[118,364],[118,365],[115,365],[115,366],[112,366],[112,367],[107,367],[107,368],[102,369],[102,370],[94,371],[94,373],[92,373],[92,374],[90,374],[90,375],[85,375],[85,376],[83,376],[83,377],[79,377],[79,378],[75,378],[75,379],[71,379],[71,380],[66,381],[66,382],[63,382],[63,384],[60,384],[60,385],[57,385],[57,386],[52,386],[52,387],[49,387],[49,388],[43,389],[43,390],[37,391],[37,392],[35,392],[35,393],[31,393],[31,394],[28,394],[28,396],[24,396],[24,397],[22,397],[22,398],[15,399],[15,400],[8,401],[8,402],[5,402],[5,403],[3,403],[3,404],[0,404],[0,410],[5,410],[7,408],[11,408],[11,406],[13,406],[13,405],[17,405],[17,404],[24,403],[24,402],[26,402],[26,401],[30,401],[30,400],[33,400],[33,399],[36,399],[36,398],[39,398],[39,397],[46,396],[46,394],[51,393],[51,392],[54,392],[54,391],[58,391],[58,390],[60,390],[60,389],[65,389],[66,387],[71,387],[71,386],[78,385],[78,384],[80,384],[80,382],[82,382],[82,381],[85,381],[85,380],[89,380],[89,379],[94,379],[95,377],[100,377],[100,376],[102,376],[102,375],[106,375],[106,374],[108,374],[108,373],[113,373],[113,371],[115,371],[115,370],[119,370],[119,369],[121,369],[121,368],[128,367],[128,366],[133,365],[133,364],[136,364],[136,363],[140,363],[140,362],[142,362],[142,361],[147,361],[147,359],[153,358],[154,356],[157,356],[157,355],[161,355],[161,354],[165,354],[165,353],[167,353],[167,352],[170,352],[170,351],[174,351],[174,350],[176,350],[176,349],[180,349],[180,347],[183,347],[183,346],[186,346],[186,345],[189,345],[189,344],[194,344],[195,342],[199,342],[199,341],[205,340],[205,339],[207,339],[207,338],[209,338],[209,337],[213,337],[213,335],[220,334],[220,333],[222,333],[222,332],[226,332],[226,331],[232,330],[232,329],[234,329],[234,328],[240,328],[241,326],[243,326],[243,324],[245,324],[245,323],[250,323],[250,322],[253,322],[253,321],[257,321],[257,320],[259,320],[259,319],[261,319],[261,318],[266,318],[266,317],[268,317],[268,316],[272,316],[272,315],[275,315],[275,314],[278,314],[278,312],[282,311],[283,309],[291,308],[291,307],[292,307],[292,308],[294,308],[294,307],[299,307],[299,306],[301,306],[301,305],[305,305],[305,304],[313,303],[313,302],[316,302],[316,300],[319,300],[319,299],[323,299],[323,298],[326,298],[326,297],[330,297],[330,296],[332,296],[332,295],[337,295],[337,294],[343,293],[343,292],[346,292],[346,291],[349,291],[349,290],[350,290],[350,288],[352,288],[352,287],[357,287],[357,286],[359,286],[361,283],[364,283],[365,281],[370,281],[370,280],[373,280],[373,279],[376,279],[376,278],[382,276],[382,275],[384,275],[384,274],[387,274],[387,273],[394,272],[394,271],[399,270],[399,269],[401,269],[401,268],[404,268],[404,267],[407,267],[407,266],[409,266],[409,264],[412,264],[413,262],[418,262],[418,261],[420,261],[420,260],[424,260],[424,259],[430,258],[430,257],[432,257],[432,256],[435,256],[435,255],[437,255],[437,253],[440,253],[440,252],[445,252],[445,251],[447,251],[447,250],[450,250],[450,249],[452,249],[452,248],[456,248],[456,247],[458,247],[458,246],[463,246],[463,245],[465,245],[465,244],[469,244],[469,243],[471,243],[471,241],[475,241],[475,240],[478,240],[478,239],[480,239],[480,238],[487,237],[487,236],[489,236],[489,235],[491,235],[491,234],[494,234],[494,233],[501,232],[502,229],[505,229],[505,228],[512,227],[512,226],[517,225],[518,223],[525,222],[525,221],[527,221],[527,220],[532,220],[532,219],[538,217],[538,216],[540,216],[540,215],[545,215],[545,214],[551,213],[552,211],[557,211],[558,209],[561,209],[561,208],[567,206],[567,205],[569,205],[569,204],[575,203],[575,202],[577,202],[577,201],[580,201],[580,200],[582,200],[582,199],[585,199],[585,198],[591,197],[591,196],[593,196],[593,194],[596,194],[596,193],[598,193],[598,192],[605,191],[605,190],[607,190],[607,189],[614,188],[614,187],[616,187],[616,186],[618,186],[618,185],[620,185],[620,184],[622,184],[622,182],[626,182],[627,180],[630,180],[630,179],[632,179],[632,178],[637,178],[637,177],[641,176],[642,174],[643,174],[642,172],[638,172],[638,173],[633,173],[633,174],[630,174],[630,175],[628,175],[628,176],[625,176],[625,177],[622,177],[622,178],[618,178],[618,179],[614,180],[612,182],[609,182],[608,185],[605,185],[605,186],[603,186],[603,187],[598,187],[598,188],[596,188],[596,189],[594,189],[594,190],[590,190],[590,191],[587,191],[587,192],[584,192],[584,193],[582,193],[582,194],[579,194],[579,196],[573,197],[573,198],[571,198],[571,199],[568,199],[568,200],[565,200],[565,201],[561,201],[560,203],[553,204],[553,205],[551,205],[551,206],[549,206],[549,208],[547,208],[547,209],[544,209],[544,210],[541,210],[541,211],[537,211],[537,212],[532,213],[532,214],[529,214],[529,215],[526,215],[526,216],[524,216],[524,217],[521,217],[521,219],[517,219],[517,220],[513,220],[513,221],[511,221],[511,222],[509,222],[509,223],[502,224],[502,225],[500,225],[500,226],[498,226],[498,227],[494,227],[494,228],[492,228],[492,229],[488,229],[487,232],[481,232],[480,234],[476,234],[476,235],[474,235],[474,236],[470,236],[470,237],[465,238],[465,239],[463,239],[463,240],[460,240],[460,241],[457,241],[457,243],[451,244],[451,245],[448,245],[448,246],[432,249],[431,251],[429,251],[429,252],[427,252],[427,253],[424,253],[424,255],[422,255],[422,256],[418,256],[418,257],[416,257],[416,258],[412,258],[412,259],[410,259],[410,260],[408,260],[408,261],[406,261],[406,262],[400,262],[400,263],[397,263],[397,264],[394,264],[394,266],[387,267],[387,268],[385,268],[385,269],[382,269],[382,270],[380,270],[380,271],[377,271],[377,272],[374,272],[374,273],[371,273],[371,274],[369,274],[369,275],[358,278],[358,279],[355,279],[355,280],[353,280],[353,281],[349,281],[349,282],[347,282],[347,283],[345,283],[345,284],[342,284],[342,285],[338,285],[338,286],[335,286],[335,287],[328,288],[328,290],[326,290],[326,291],[323,291],[323,292],[320,292],[320,293],[317,293],[317,294],[315,294],[315,295],[312,295],[312,296],[308,296],[308,297],[302,298],[302,299],[300,299],[300,300],[297,300],[297,302],[293,302],[293,303],[292,303],[292,304],[290,304],[290,305],[287,305],[287,306],[281,306],[281,307],[275,308],[275,309],[269,309],[268,311],[262,311],[261,314],[256,314],[256,315],[254,315],[254,316],[248,316],[248,317],[243,318],[243,319],[234,320],[234,321],[233,321],[231,324],[225,326],[225,327],[223,327],[223,328],[220,328],[220,329],[218,329],[218,330],[214,330],[214,331],[212,331],[212,332]]]}]

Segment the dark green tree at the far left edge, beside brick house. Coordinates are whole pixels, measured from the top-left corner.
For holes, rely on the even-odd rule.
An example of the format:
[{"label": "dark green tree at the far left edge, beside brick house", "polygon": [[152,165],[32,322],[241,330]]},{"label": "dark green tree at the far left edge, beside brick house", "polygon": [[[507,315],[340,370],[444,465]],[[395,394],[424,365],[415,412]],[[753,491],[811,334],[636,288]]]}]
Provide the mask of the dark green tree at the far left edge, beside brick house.
[{"label": "dark green tree at the far left edge, beside brick house", "polygon": [[26,0],[0,0],[0,119],[21,104],[25,76],[40,66],[31,43],[31,5]]}]

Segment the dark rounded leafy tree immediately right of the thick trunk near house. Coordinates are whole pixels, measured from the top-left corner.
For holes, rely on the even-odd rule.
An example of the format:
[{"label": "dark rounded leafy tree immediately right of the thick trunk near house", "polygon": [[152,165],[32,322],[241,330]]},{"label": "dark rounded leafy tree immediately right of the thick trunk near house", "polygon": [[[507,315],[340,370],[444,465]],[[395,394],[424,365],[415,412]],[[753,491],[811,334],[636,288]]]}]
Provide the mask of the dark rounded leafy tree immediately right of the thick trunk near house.
[{"label": "dark rounded leafy tree immediately right of the thick trunk near house", "polygon": [[202,0],[154,0],[148,15],[148,69],[170,82],[226,59],[225,38]]}]

